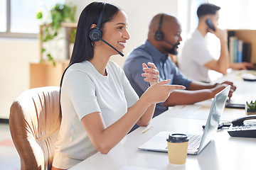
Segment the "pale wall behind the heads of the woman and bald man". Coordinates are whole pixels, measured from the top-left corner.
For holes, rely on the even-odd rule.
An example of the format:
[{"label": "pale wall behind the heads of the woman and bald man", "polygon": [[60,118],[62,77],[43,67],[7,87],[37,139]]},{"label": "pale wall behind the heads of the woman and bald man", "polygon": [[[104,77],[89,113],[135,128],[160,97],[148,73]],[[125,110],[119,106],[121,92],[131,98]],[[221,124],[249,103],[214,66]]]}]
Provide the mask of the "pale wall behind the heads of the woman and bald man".
[{"label": "pale wall behind the heads of the woman and bald man", "polygon": [[[188,4],[190,0],[103,0],[115,4],[122,8],[128,17],[128,32],[130,39],[124,49],[124,57],[115,55],[112,57],[114,62],[117,62],[121,67],[124,63],[125,56],[134,47],[137,47],[145,42],[148,33],[149,22],[157,13],[171,13],[177,16],[183,26],[183,32],[187,30],[187,15]],[[66,3],[71,3],[77,6],[76,18],[78,19],[82,10],[90,4],[89,0],[66,0]]]}]

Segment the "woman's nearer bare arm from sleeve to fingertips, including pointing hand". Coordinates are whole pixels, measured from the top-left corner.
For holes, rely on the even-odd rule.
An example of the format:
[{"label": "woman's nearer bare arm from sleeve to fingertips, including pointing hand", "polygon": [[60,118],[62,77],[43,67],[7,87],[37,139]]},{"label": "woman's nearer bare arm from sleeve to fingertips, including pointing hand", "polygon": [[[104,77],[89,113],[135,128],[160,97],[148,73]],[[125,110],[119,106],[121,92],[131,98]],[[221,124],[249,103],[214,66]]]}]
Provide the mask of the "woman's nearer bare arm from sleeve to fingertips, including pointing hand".
[{"label": "woman's nearer bare arm from sleeve to fingertips, including pointing hand", "polygon": [[169,80],[161,81],[151,86],[122,118],[107,128],[100,113],[85,115],[81,122],[95,148],[102,154],[107,154],[127,135],[149,106],[165,101],[174,89],[185,88],[184,86],[166,85],[168,83]]}]

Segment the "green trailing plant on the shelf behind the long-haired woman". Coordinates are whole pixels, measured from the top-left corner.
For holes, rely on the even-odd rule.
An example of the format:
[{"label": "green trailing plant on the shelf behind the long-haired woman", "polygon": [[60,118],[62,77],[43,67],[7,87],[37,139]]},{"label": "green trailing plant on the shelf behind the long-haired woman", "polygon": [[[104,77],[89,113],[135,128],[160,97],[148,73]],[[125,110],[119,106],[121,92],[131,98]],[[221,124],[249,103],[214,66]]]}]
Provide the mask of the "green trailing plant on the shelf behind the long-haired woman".
[{"label": "green trailing plant on the shelf behind the long-haired woman", "polygon": [[[43,17],[43,12],[38,11],[36,13],[36,18],[38,20],[43,20],[43,18],[47,18],[46,21],[43,21],[43,25],[41,26],[41,42],[42,48],[41,52],[48,61],[53,62],[53,65],[55,66],[55,60],[53,57],[53,50],[56,51],[56,47],[53,47],[53,43],[55,44],[60,44],[60,47],[63,47],[61,43],[63,42],[58,42],[58,41],[63,41],[63,35],[65,35],[65,31],[63,35],[61,35],[61,24],[62,23],[75,23],[75,11],[76,11],[76,6],[71,6],[67,4],[55,4],[53,8],[50,9],[49,11],[49,16],[48,17]],[[50,19],[48,19],[50,18]],[[75,40],[75,28],[71,29],[68,33],[69,40],[71,43]],[[47,44],[48,43],[48,44]],[[53,50],[49,50],[49,48],[53,48]],[[64,48],[64,47],[63,47]],[[43,60],[43,57],[41,57],[41,62]]]}]

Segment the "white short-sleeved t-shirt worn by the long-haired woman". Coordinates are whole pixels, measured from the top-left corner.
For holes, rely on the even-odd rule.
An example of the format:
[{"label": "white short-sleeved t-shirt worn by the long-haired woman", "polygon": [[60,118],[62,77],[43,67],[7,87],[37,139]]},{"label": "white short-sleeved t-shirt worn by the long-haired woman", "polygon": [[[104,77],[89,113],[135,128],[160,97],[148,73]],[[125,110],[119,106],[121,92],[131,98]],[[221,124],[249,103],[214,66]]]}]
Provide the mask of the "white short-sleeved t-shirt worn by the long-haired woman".
[{"label": "white short-sleeved t-shirt worn by the long-haired woman", "polygon": [[138,101],[117,64],[109,61],[106,70],[107,76],[102,76],[85,61],[73,64],[65,72],[60,95],[63,117],[53,159],[56,168],[69,169],[97,152],[80,122],[85,115],[100,112],[108,127]]}]

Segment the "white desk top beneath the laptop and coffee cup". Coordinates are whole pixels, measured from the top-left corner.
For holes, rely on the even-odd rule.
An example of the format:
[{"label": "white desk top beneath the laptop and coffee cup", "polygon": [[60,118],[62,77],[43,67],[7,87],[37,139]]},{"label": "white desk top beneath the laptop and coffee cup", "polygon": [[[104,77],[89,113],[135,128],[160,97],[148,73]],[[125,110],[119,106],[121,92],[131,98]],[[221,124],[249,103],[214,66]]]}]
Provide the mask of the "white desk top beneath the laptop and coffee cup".
[{"label": "white desk top beneath the laptop and coffee cup", "polygon": [[[238,94],[243,93],[247,97],[254,96],[255,100],[256,90],[252,91],[253,93],[245,92],[248,87],[255,89],[255,82],[238,80],[235,83],[238,86]],[[243,88],[242,92],[240,88]],[[202,125],[206,124],[210,111],[207,102],[210,101],[196,103],[195,105],[171,107],[169,111],[151,120],[148,127],[140,127],[124,137],[108,154],[98,152],[80,164],[73,166],[70,170],[256,169],[256,138],[230,137],[227,129],[218,130],[215,140],[210,142],[200,154],[188,155],[186,164],[183,165],[169,164],[167,153],[138,149],[142,143],[162,130],[184,133],[203,132]],[[243,115],[245,115],[243,109],[225,108],[221,120],[230,121]]]}]

